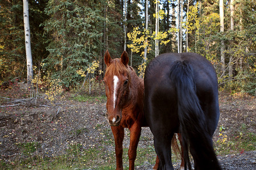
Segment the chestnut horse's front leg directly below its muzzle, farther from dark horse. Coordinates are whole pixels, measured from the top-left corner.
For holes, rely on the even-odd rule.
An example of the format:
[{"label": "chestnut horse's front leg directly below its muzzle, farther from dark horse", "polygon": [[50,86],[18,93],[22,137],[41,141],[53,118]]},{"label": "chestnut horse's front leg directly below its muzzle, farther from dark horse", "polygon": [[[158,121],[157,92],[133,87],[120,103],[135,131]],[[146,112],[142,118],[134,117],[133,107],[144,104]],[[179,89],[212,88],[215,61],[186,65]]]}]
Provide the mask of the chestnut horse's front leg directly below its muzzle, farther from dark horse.
[{"label": "chestnut horse's front leg directly below its muzzle, farther from dark horse", "polygon": [[115,139],[115,157],[117,159],[117,170],[123,169],[123,137],[124,129],[122,126],[111,126]]}]

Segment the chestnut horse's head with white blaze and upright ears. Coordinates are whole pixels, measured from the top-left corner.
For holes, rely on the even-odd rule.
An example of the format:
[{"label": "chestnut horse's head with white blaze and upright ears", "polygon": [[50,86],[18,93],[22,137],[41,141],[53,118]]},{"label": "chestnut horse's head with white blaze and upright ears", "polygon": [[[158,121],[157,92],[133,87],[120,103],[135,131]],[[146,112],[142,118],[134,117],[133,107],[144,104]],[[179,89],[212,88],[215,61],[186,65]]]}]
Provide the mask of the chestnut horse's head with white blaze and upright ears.
[{"label": "chestnut horse's head with white blaze and upright ears", "polygon": [[130,75],[128,71],[129,57],[123,52],[121,58],[112,59],[108,50],[105,53],[107,104],[106,118],[110,126],[118,126],[122,119],[122,108],[129,95]]}]

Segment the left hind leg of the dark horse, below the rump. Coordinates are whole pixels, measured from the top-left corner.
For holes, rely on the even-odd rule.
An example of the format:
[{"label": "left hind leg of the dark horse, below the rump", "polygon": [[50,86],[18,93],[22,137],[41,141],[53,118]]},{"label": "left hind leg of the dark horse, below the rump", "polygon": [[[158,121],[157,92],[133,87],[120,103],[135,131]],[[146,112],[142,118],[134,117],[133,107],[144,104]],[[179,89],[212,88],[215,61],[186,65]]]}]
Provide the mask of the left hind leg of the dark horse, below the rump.
[{"label": "left hind leg of the dark horse, below the rump", "polygon": [[174,169],[171,160],[171,135],[154,135],[155,151],[160,159],[158,169]]}]

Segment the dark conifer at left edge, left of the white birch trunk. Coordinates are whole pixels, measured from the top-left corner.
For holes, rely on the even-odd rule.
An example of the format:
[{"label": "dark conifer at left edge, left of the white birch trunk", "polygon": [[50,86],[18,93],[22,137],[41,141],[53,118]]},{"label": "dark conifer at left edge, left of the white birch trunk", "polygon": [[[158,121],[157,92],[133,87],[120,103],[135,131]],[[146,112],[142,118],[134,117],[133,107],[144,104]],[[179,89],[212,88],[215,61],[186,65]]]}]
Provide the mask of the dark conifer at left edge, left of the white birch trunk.
[{"label": "dark conifer at left edge, left of the white birch trunk", "polygon": [[26,78],[22,1],[0,1],[0,6],[0,81]]}]

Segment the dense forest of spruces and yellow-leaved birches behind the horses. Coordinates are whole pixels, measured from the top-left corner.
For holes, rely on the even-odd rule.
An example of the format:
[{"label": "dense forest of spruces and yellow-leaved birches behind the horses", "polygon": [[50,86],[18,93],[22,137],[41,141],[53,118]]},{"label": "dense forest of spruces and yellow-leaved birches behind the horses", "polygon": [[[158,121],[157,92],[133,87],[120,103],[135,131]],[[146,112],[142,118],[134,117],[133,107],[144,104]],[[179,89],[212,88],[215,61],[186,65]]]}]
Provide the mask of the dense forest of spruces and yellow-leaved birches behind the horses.
[{"label": "dense forest of spruces and yellow-leaved birches behind the horses", "polygon": [[[194,52],[213,63],[221,88],[256,94],[254,0],[31,0],[29,19],[34,84],[100,83],[107,49],[114,58],[126,50],[140,76],[158,54]],[[0,1],[2,87],[26,82],[24,42],[22,1]]]}]

